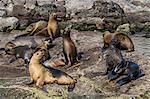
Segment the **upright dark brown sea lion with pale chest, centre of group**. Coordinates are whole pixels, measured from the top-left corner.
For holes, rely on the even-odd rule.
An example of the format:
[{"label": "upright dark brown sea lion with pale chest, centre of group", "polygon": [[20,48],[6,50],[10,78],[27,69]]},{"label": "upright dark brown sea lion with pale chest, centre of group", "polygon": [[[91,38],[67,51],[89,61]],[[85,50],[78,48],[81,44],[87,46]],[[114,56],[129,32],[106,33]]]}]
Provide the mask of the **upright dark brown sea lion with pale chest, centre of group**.
[{"label": "upright dark brown sea lion with pale chest, centre of group", "polygon": [[63,54],[68,66],[78,62],[77,49],[70,37],[70,31],[71,29],[69,27],[63,31]]}]

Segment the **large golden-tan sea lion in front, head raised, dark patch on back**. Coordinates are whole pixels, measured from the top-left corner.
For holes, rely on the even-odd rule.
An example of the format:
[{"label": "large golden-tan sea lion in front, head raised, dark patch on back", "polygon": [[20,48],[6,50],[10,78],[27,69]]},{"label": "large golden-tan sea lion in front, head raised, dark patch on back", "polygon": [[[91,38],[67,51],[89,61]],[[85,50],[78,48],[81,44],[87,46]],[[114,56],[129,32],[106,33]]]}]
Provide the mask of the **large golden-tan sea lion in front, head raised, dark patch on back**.
[{"label": "large golden-tan sea lion in front, head raised, dark patch on back", "polygon": [[36,86],[41,89],[43,89],[44,84],[64,84],[69,85],[68,91],[73,91],[77,81],[63,71],[45,67],[40,63],[43,56],[44,50],[39,50],[33,54],[30,60],[29,73],[31,82],[29,84],[36,82]]}]

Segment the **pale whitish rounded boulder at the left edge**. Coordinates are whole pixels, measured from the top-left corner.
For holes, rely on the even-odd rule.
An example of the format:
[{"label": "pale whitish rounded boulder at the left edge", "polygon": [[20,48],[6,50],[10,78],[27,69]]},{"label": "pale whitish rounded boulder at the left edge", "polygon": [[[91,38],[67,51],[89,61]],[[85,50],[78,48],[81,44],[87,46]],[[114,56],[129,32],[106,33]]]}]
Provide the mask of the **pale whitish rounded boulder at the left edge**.
[{"label": "pale whitish rounded boulder at the left edge", "polygon": [[0,19],[0,31],[11,31],[17,29],[19,20],[16,17],[7,17]]}]

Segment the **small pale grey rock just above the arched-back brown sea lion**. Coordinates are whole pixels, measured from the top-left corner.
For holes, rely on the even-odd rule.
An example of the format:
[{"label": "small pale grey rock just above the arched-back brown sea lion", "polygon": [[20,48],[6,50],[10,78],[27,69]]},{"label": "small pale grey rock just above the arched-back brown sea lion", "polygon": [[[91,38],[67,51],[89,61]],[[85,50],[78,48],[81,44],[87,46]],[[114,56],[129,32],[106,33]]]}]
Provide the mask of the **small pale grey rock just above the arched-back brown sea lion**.
[{"label": "small pale grey rock just above the arched-back brown sea lion", "polygon": [[132,34],[130,30],[130,24],[126,23],[117,27],[116,32],[121,32],[125,34]]}]

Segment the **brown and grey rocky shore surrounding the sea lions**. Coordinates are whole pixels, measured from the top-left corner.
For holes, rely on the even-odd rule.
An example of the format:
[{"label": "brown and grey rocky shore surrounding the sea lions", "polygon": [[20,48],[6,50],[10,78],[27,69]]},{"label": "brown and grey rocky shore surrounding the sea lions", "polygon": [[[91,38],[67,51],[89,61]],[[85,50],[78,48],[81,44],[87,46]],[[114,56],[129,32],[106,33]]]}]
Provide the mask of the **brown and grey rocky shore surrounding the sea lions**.
[{"label": "brown and grey rocky shore surrounding the sea lions", "polygon": [[[84,5],[84,6],[83,6]],[[72,24],[71,37],[81,53],[80,66],[65,70],[78,80],[75,90],[67,92],[67,86],[46,85],[49,94],[38,90],[35,85],[27,86],[28,69],[17,60],[7,64],[10,56],[0,51],[0,97],[3,99],[148,99],[150,97],[150,62],[148,50],[150,37],[149,0],[6,0],[0,1],[0,47],[6,40],[27,33],[32,24],[48,21],[48,13],[59,13],[59,25],[63,30]],[[135,52],[127,58],[138,63],[145,76],[121,88],[114,82],[108,83],[101,75],[104,62],[100,61],[100,48],[103,44],[102,32],[127,33],[135,43]],[[140,35],[140,36],[136,36]],[[146,42],[146,43],[145,43]],[[54,58],[60,58],[62,38],[54,40],[49,51]],[[147,46],[147,47],[146,47]],[[145,56],[146,53],[146,56]]]}]

